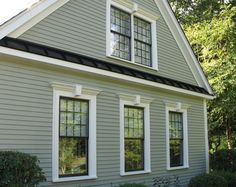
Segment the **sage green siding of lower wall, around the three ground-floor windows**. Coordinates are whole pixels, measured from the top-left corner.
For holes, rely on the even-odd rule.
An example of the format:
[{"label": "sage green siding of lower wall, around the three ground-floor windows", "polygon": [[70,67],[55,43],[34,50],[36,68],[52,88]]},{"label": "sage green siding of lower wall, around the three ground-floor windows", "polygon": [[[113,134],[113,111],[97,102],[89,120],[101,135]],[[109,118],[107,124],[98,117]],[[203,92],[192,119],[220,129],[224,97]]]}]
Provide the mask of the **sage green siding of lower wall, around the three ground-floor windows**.
[{"label": "sage green siding of lower wall, around the three ground-floor windows", "polygon": [[[124,81],[94,77],[80,72],[22,60],[0,59],[0,150],[18,150],[36,155],[47,175],[44,186],[110,187],[121,182],[145,182],[176,174],[181,183],[205,171],[203,101],[186,95],[141,87]],[[52,104],[50,82],[101,89],[97,96],[96,180],[52,183]],[[119,98],[117,93],[153,98],[150,105],[151,174],[120,177]],[[166,170],[166,126],[163,100],[191,105],[188,110],[189,169]]]}]

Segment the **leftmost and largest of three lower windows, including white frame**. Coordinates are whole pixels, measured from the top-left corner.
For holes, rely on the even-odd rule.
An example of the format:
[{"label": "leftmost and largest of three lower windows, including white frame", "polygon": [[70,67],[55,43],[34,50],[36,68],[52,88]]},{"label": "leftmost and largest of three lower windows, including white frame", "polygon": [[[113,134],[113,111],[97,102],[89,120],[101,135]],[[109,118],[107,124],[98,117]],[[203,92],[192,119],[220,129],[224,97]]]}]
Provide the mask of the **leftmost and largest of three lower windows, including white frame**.
[{"label": "leftmost and largest of three lower windows, including white frame", "polygon": [[53,182],[96,178],[96,95],[99,90],[52,83]]}]

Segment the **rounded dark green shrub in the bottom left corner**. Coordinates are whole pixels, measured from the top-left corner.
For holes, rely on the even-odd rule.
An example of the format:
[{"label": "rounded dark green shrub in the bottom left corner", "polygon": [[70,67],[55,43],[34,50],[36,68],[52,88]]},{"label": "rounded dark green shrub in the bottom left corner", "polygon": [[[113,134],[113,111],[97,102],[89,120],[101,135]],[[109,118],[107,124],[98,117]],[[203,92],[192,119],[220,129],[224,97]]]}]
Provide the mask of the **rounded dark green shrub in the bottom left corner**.
[{"label": "rounded dark green shrub in the bottom left corner", "polygon": [[0,151],[0,186],[33,187],[46,178],[36,156]]}]

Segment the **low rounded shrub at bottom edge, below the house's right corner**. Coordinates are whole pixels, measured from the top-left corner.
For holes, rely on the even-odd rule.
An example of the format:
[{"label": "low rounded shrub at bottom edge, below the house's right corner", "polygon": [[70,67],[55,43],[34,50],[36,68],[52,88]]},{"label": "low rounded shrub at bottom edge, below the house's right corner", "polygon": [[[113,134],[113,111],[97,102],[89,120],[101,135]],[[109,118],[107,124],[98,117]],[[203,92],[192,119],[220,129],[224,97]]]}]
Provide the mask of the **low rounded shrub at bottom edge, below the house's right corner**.
[{"label": "low rounded shrub at bottom edge, below the house's right corner", "polygon": [[204,173],[193,177],[189,187],[227,187],[227,181],[221,176]]}]

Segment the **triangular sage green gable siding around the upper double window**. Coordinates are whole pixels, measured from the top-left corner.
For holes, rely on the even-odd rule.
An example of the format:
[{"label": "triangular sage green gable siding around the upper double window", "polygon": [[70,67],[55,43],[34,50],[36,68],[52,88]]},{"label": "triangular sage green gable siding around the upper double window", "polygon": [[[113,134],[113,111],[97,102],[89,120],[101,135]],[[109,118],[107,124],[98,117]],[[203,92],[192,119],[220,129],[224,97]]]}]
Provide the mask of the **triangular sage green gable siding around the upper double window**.
[{"label": "triangular sage green gable siding around the upper double window", "polygon": [[106,0],[71,0],[19,38],[197,85],[155,2],[133,1],[159,17],[158,71],[106,57]]}]

